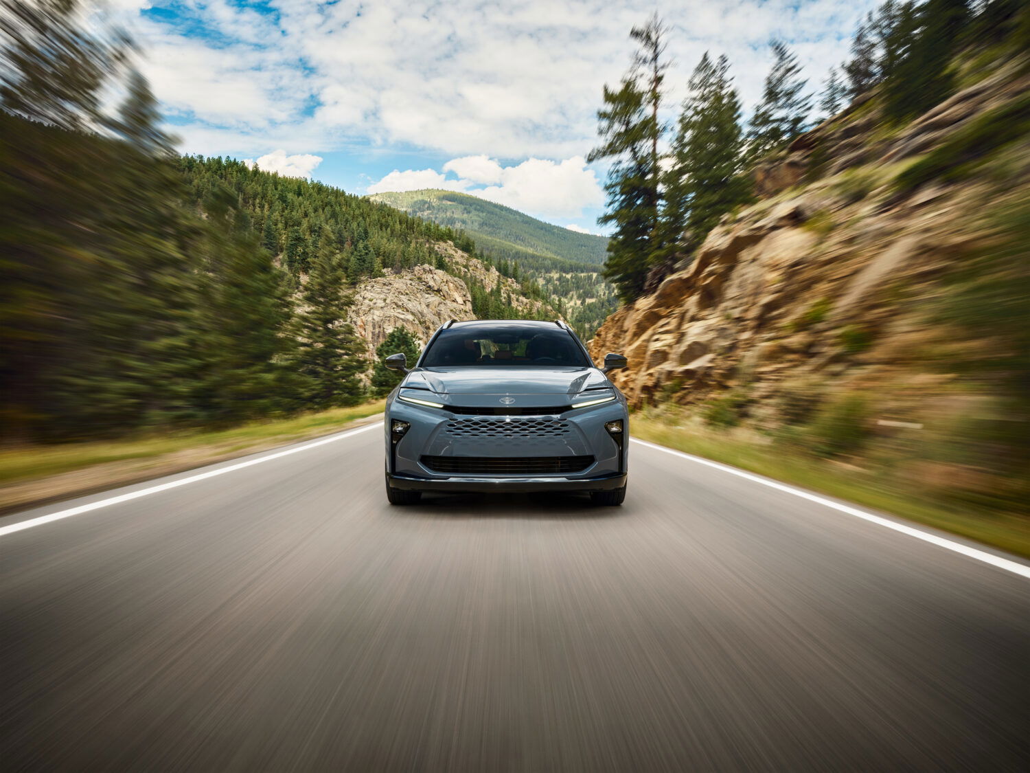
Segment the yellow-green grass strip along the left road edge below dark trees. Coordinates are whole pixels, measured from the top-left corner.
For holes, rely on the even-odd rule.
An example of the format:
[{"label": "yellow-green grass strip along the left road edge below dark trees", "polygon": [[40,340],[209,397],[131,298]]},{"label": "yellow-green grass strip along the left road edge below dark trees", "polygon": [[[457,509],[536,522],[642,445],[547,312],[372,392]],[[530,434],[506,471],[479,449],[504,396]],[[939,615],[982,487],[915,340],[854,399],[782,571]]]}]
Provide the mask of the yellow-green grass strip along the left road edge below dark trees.
[{"label": "yellow-green grass strip along the left road edge below dark trees", "polygon": [[385,401],[378,400],[289,418],[251,422],[227,430],[196,430],[119,440],[7,447],[0,449],[0,485],[112,462],[152,459],[157,464],[162,459],[181,451],[203,455],[207,449],[212,453],[231,455],[247,448],[328,434],[348,422],[381,412],[384,405]]}]

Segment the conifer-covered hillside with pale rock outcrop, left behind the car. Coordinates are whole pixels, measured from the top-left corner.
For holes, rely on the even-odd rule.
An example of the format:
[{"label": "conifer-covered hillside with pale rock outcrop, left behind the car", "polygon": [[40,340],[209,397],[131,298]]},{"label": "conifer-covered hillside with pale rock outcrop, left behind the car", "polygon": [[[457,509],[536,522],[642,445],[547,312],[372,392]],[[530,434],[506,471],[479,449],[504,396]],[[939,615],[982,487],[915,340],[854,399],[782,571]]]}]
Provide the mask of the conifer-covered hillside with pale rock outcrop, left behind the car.
[{"label": "conifer-covered hillside with pale rock outcrop, left behind the car", "polygon": [[[518,278],[517,272],[514,277],[507,275],[512,273],[508,264],[494,266],[488,256],[477,254],[468,235],[446,226],[332,186],[281,177],[234,159],[184,157],[179,164],[196,206],[203,207],[218,191],[235,197],[234,203],[245,213],[246,227],[260,234],[262,246],[285,269],[286,284],[294,292],[314,259],[328,253],[339,261],[342,280],[357,291],[362,313],[375,313],[373,309],[386,309],[403,299],[409,308],[396,318],[418,318],[417,324],[402,327],[422,341],[424,331],[445,322],[448,317],[441,314],[450,312],[462,318],[554,318],[559,314],[536,282]],[[443,292],[454,283],[436,277],[426,267],[465,287],[457,296],[453,290]],[[372,282],[376,278],[379,281]],[[385,296],[394,285],[405,292],[388,303]],[[442,292],[446,302],[441,302]],[[377,294],[384,296],[381,303]],[[381,320],[355,316],[353,308],[348,315],[372,347],[389,332],[381,331]],[[377,332],[364,335],[365,331]]]}]

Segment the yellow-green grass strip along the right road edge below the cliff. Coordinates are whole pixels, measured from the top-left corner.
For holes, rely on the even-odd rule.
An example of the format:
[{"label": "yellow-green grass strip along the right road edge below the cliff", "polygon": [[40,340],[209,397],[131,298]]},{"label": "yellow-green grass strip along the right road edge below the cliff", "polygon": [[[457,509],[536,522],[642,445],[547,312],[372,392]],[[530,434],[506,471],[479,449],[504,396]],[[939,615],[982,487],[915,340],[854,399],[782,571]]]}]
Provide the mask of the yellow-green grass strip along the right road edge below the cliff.
[{"label": "yellow-green grass strip along the right road edge below the cliff", "polygon": [[646,413],[633,414],[630,427],[632,434],[642,440],[900,515],[1030,558],[1030,522],[1016,514],[982,514],[958,506],[912,499],[880,485],[869,473],[844,467],[837,469],[831,463],[792,455],[781,446],[734,438],[723,431],[694,425],[671,426]]}]

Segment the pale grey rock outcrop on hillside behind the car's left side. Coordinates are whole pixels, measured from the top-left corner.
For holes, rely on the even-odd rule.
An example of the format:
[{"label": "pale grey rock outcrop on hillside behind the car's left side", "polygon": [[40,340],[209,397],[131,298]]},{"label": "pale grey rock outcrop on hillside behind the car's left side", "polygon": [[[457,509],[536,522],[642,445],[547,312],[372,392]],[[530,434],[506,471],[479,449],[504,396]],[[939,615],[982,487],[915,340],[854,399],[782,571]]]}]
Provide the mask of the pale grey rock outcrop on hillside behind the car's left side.
[{"label": "pale grey rock outcrop on hillside behind the car's left side", "polygon": [[435,249],[447,261],[450,273],[428,265],[405,271],[384,269],[383,276],[358,284],[349,320],[368,342],[370,351],[394,328],[404,328],[424,344],[433,331],[448,320],[475,320],[469,281],[487,292],[500,284],[505,299],[523,316],[538,316],[549,310],[545,303],[525,298],[518,282],[453,244],[441,242]]}]

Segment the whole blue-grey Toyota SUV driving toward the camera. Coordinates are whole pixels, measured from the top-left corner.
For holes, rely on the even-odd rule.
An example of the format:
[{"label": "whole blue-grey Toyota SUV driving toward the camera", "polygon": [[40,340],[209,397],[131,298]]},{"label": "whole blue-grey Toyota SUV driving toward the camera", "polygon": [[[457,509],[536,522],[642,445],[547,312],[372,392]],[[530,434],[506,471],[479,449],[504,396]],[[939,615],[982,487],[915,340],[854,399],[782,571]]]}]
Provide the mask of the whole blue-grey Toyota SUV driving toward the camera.
[{"label": "whole blue-grey Toyota SUV driving toward the camera", "polygon": [[624,363],[595,368],[563,323],[448,323],[387,399],[390,502],[555,491],[621,504],[628,414],[605,373]]}]

